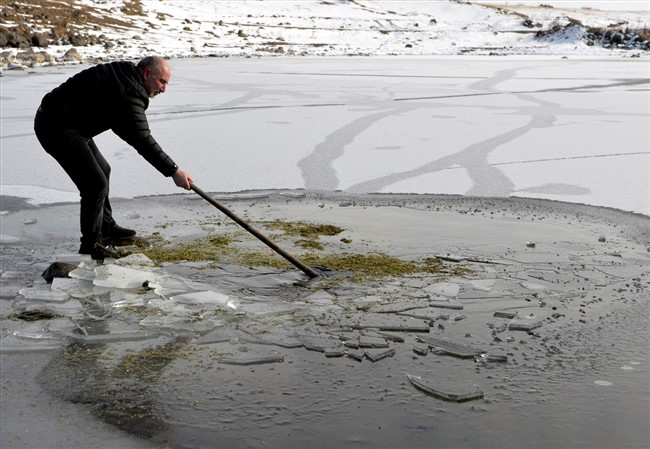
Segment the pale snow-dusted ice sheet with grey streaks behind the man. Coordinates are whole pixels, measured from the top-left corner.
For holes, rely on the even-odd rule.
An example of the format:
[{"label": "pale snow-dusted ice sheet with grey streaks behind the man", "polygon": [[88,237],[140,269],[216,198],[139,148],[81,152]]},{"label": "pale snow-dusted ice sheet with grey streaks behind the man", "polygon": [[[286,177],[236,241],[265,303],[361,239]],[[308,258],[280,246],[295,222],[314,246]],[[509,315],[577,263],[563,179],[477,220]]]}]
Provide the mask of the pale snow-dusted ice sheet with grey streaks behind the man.
[{"label": "pale snow-dusted ice sheet with grey streaks behind the man", "polygon": [[[213,192],[534,197],[650,215],[645,59],[182,59],[154,136]],[[33,135],[41,97],[83,67],[2,77],[2,194],[77,201]],[[178,193],[112,133],[112,195]],[[135,182],[134,182],[135,181]]]}]

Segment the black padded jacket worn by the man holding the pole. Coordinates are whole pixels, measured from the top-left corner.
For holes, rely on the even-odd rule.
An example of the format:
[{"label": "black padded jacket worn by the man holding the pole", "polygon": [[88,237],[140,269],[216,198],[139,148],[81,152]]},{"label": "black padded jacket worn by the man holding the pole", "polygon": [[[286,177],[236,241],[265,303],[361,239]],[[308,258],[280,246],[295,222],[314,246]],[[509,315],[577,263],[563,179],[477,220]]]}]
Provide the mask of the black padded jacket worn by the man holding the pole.
[{"label": "black padded jacket worn by the man holding the pole", "polygon": [[178,166],[151,135],[149,96],[135,64],[111,62],[83,70],[43,97],[44,113],[57,126],[92,138],[111,129],[165,176]]}]

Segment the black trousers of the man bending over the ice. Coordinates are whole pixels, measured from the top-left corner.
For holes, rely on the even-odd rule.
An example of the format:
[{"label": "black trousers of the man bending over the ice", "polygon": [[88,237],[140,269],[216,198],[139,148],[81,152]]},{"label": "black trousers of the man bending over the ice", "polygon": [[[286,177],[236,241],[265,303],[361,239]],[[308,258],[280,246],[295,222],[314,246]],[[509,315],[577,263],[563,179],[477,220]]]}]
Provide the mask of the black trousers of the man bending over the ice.
[{"label": "black trousers of the man bending over the ice", "polygon": [[81,197],[81,244],[92,247],[101,240],[102,229],[115,224],[108,199],[111,166],[93,139],[58,123],[38,108],[34,119],[36,137],[77,186]]}]

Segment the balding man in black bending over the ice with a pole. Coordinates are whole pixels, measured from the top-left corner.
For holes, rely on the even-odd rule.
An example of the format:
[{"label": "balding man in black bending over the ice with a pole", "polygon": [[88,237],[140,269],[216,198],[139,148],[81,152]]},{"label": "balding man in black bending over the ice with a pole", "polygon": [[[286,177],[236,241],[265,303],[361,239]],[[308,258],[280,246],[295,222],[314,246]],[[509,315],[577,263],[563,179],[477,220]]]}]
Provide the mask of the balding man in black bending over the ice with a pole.
[{"label": "balding man in black bending over the ice with a pole", "polygon": [[93,137],[111,129],[178,187],[190,189],[191,176],[178,168],[151,135],[145,110],[165,92],[167,61],[157,56],[99,64],[83,70],[43,97],[34,130],[39,142],[63,167],[81,196],[80,254],[119,257],[106,244],[136,232],[115,223],[108,199],[111,167]]}]

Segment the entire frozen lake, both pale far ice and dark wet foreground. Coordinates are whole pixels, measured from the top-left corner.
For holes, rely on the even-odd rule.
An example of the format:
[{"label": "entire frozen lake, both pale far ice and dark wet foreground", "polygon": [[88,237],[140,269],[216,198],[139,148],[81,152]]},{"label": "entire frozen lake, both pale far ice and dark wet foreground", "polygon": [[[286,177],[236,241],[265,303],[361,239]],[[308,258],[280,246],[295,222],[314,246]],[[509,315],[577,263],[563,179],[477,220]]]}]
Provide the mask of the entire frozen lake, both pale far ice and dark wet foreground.
[{"label": "entire frozen lake, both pale far ice and dark wet foreground", "polygon": [[[639,431],[648,422],[650,366],[646,217],[481,198],[410,196],[394,207],[397,200],[385,195],[354,195],[519,196],[650,215],[647,61],[223,58],[171,65],[171,86],[149,109],[151,127],[204,190],[327,191],[319,199],[313,192],[242,195],[229,204],[257,222],[336,223],[350,237],[344,248],[362,254],[471,256],[479,261],[474,275],[442,284],[432,275],[296,286],[293,271],[180,262],[145,271],[228,295],[240,311],[161,302],[155,292],[126,287],[100,298],[95,288],[109,288],[101,278],[96,285],[67,280],[85,289],[75,291],[83,304],[48,304],[43,295],[52,290],[41,273],[76,251],[78,207],[8,213],[3,233],[21,240],[3,246],[3,447],[647,446],[647,432]],[[80,68],[3,74],[3,196],[77,201],[32,121],[40,98]],[[179,190],[111,133],[96,140],[113,167],[113,196],[147,196],[114,203],[125,225],[175,243],[228,228],[195,195],[166,195]],[[360,204],[341,207],[335,190]],[[328,243],[334,251],[343,244],[339,236]],[[429,299],[428,318],[399,315],[400,304]],[[436,311],[443,300],[462,311]],[[7,317],[43,304],[62,316],[46,323]],[[166,305],[178,307],[157,309]],[[389,329],[417,321],[398,332],[401,339],[373,331],[372,320],[390,307]],[[497,311],[539,327],[523,332]],[[191,325],[179,317],[191,317]],[[206,333],[209,326],[215,329]],[[429,334],[480,346],[481,356],[448,357],[438,343],[425,347],[426,356],[416,353],[416,336]],[[375,356],[391,352],[377,363],[324,355],[344,338],[377,344]],[[484,359],[486,348],[508,363]],[[442,402],[414,388],[407,372],[453,387],[476,383],[485,398]]]}]

